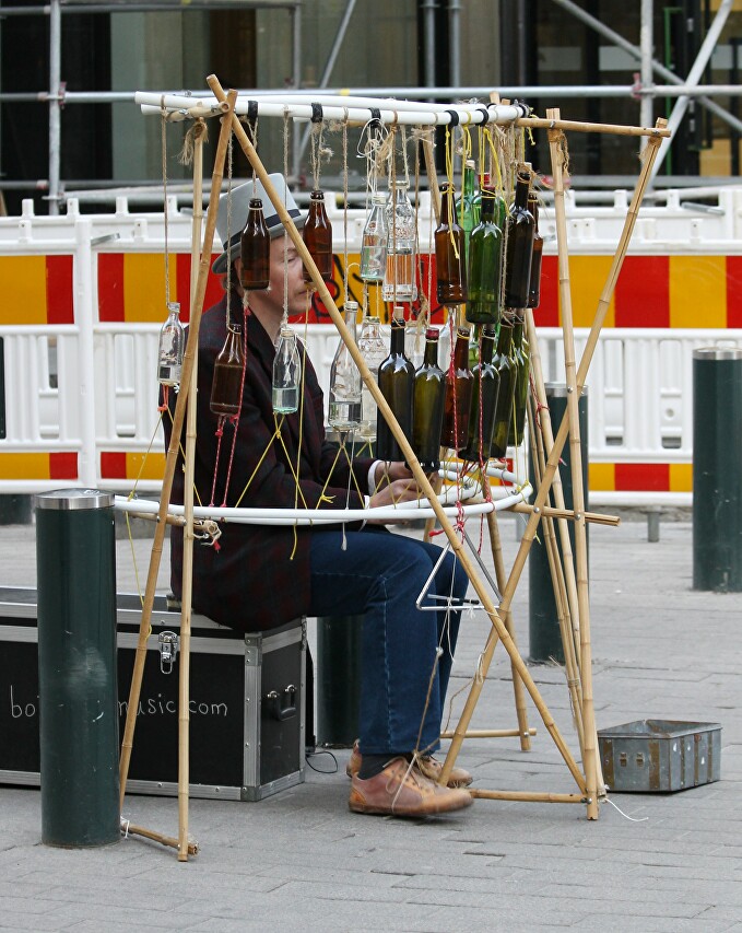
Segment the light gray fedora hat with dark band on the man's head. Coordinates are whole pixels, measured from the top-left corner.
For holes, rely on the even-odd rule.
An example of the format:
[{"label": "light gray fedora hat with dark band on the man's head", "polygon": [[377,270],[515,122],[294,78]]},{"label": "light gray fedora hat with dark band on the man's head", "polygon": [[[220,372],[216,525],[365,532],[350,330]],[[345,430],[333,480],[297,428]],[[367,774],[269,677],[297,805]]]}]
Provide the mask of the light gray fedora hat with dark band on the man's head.
[{"label": "light gray fedora hat with dark band on the man's head", "polygon": [[[296,207],[296,201],[288,190],[286,179],[280,172],[274,172],[268,177],[288,211],[288,217],[291,217],[296,226],[304,226],[304,214]],[[239,256],[239,241],[247,223],[250,198],[262,199],[266,226],[270,232],[271,240],[281,236],[285,232],[281,218],[278,215],[275,208],[258,178],[256,178],[255,185],[252,182],[247,182],[237,188],[233,188],[232,191],[221,195],[219,210],[216,211],[216,234],[222,241],[222,249],[224,252],[217,259],[214,259],[214,264],[211,267],[212,271],[216,272],[216,275],[226,272],[227,264]]]}]

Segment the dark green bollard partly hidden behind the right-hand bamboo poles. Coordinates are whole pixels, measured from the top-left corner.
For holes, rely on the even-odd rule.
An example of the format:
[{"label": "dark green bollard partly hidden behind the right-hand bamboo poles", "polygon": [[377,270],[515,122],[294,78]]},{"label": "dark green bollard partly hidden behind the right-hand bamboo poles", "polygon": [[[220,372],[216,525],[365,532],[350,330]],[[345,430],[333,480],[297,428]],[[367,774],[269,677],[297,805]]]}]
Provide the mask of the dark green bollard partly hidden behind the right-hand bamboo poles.
[{"label": "dark green bollard partly hidden behind the right-hand bamboo poles", "polygon": [[[567,410],[567,387],[558,383],[546,383],[546,401],[552,427],[556,435],[562,417]],[[582,459],[582,489],[585,490],[585,508],[588,508],[588,400],[587,386],[578,405],[580,453]],[[531,458],[534,452],[531,452]],[[567,509],[574,508],[572,485],[572,457],[569,453],[569,440],[562,451],[563,464],[560,464],[560,477],[564,490],[564,502]],[[530,464],[530,478],[533,482],[533,464]],[[569,521],[569,541],[572,552],[575,553],[575,523]],[[557,546],[562,555],[562,546],[558,540],[558,529],[554,528],[557,536]],[[587,529],[586,529],[587,530]],[[545,664],[556,661],[564,664],[564,648],[562,645],[562,633],[560,620],[556,613],[556,600],[554,598],[554,586],[549,569],[549,557],[546,555],[546,543],[543,523],[539,525],[538,539],[533,540],[528,557],[528,633],[529,633],[529,661],[535,664]]]}]

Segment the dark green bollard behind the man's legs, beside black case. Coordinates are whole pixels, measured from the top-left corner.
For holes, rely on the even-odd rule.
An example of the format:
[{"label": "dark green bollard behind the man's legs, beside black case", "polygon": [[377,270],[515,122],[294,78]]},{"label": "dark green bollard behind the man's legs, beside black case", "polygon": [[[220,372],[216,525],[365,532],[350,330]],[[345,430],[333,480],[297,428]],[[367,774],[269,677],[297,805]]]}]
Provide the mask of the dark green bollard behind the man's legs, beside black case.
[{"label": "dark green bollard behind the man's legs, beside black case", "polygon": [[317,619],[317,744],[350,748],[358,737],[363,616]]}]

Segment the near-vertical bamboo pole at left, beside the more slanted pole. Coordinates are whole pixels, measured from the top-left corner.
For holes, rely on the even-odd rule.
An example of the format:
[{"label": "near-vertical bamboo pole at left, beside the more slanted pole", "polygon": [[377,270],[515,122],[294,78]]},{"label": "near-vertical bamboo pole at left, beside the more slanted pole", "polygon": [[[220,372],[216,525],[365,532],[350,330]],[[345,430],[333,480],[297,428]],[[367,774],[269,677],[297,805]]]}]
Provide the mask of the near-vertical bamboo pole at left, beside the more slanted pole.
[{"label": "near-vertical bamboo pole at left, beside the more slanted pole", "polygon": [[[193,219],[191,225],[190,293],[193,314],[203,223],[203,135],[205,124],[196,124],[193,145]],[[190,619],[193,593],[193,473],[196,463],[196,411],[198,353],[193,359],[186,419],[186,464],[184,479],[182,592],[180,606],[180,668],[178,690],[178,861],[188,861],[188,785],[190,762]]]}]

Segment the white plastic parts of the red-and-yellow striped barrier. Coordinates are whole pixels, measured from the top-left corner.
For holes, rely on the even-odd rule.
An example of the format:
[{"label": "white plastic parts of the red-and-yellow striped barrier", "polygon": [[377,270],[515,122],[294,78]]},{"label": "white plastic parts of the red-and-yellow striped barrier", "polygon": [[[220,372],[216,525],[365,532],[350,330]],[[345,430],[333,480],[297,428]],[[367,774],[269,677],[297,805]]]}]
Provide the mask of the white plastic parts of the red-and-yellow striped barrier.
[{"label": "white plastic parts of the red-and-yellow striped barrier", "polygon": [[[341,231],[342,212],[332,210],[332,199],[330,205]],[[667,208],[643,209],[639,252],[687,254],[691,246],[710,255],[742,254],[742,189],[721,191],[718,205],[716,212],[694,215],[683,208],[680,194],[670,193]],[[580,209],[568,203],[570,252],[610,253],[625,207],[625,193],[616,193],[613,208]],[[424,213],[423,199],[421,218]],[[542,222],[546,237],[549,223],[546,211]],[[357,250],[361,228],[361,212],[351,211],[349,252]],[[174,199],[168,201],[168,235],[173,254],[188,252],[190,218],[177,210]],[[421,228],[423,244],[425,236]],[[339,253],[343,248],[335,247]],[[547,240],[550,249],[553,244]],[[104,481],[101,452],[142,455],[152,446],[162,453],[154,375],[160,323],[102,323],[96,261],[106,253],[157,252],[164,252],[162,214],[130,213],[125,199],[117,200],[110,214],[82,215],[71,202],[67,217],[36,218],[28,203],[21,218],[0,219],[0,257],[72,255],[74,304],[73,322],[61,325],[3,324],[0,313],[5,369],[5,438],[0,440],[0,456],[73,451],[78,485],[105,485],[123,492],[131,480]],[[160,283],[153,287],[161,288]],[[164,299],[162,304],[164,314]],[[586,330],[576,330],[578,359],[586,336]],[[337,339],[327,325],[307,328],[308,350],[325,387]],[[591,462],[690,463],[692,351],[709,345],[742,346],[742,329],[604,330],[588,377]],[[546,378],[558,382],[564,375],[561,331],[541,329],[540,349]],[[145,479],[140,488],[153,490],[157,485]],[[0,492],[38,492],[59,486],[59,479],[51,477],[30,474],[9,479],[0,473]],[[645,497],[637,490],[628,498],[641,501]]]}]

